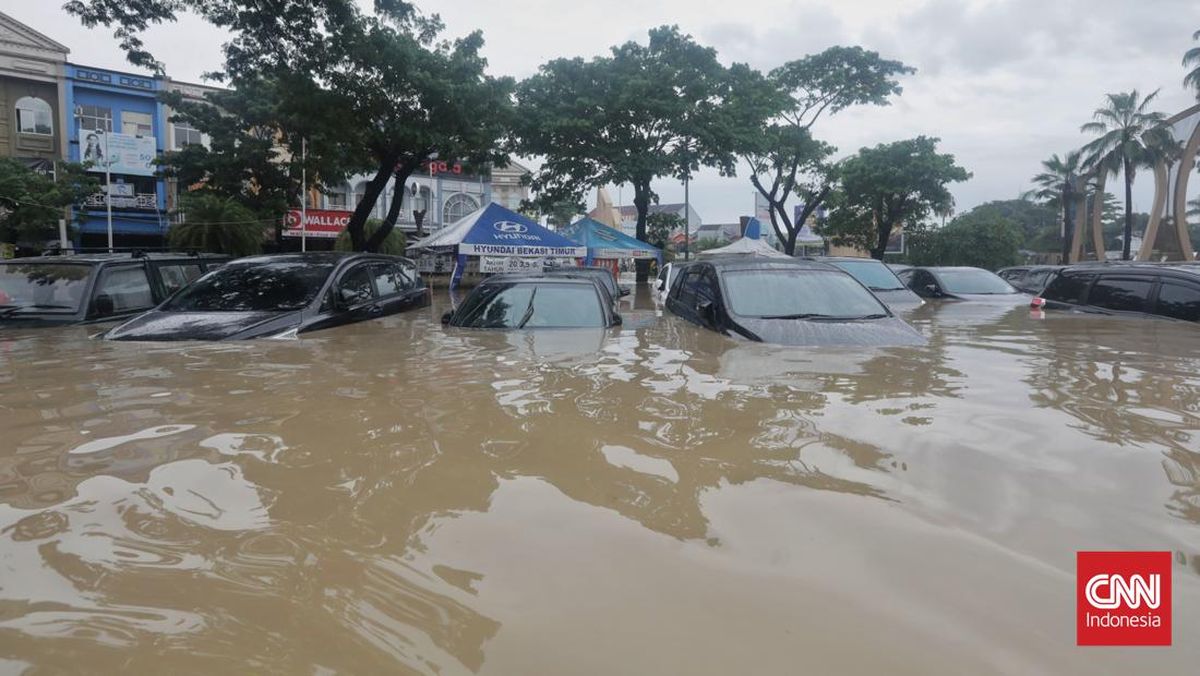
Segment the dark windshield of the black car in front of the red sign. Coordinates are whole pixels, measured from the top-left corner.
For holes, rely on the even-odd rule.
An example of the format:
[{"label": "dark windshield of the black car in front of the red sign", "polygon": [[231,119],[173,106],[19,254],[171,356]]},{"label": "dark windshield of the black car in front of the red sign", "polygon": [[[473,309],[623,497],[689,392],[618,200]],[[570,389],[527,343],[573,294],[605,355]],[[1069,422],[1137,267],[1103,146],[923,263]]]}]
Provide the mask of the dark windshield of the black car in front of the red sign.
[{"label": "dark windshield of the black car in front of the red sign", "polygon": [[332,263],[230,263],[185,287],[163,305],[170,312],[290,311],[307,306]]}]

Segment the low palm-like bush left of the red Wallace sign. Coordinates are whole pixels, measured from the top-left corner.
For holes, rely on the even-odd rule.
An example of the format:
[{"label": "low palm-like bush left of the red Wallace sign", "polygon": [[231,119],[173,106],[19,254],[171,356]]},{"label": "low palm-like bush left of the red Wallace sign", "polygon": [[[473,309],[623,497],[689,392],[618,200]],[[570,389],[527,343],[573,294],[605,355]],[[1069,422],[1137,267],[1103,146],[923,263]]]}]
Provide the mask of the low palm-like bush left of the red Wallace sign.
[{"label": "low palm-like bush left of the red Wallace sign", "polygon": [[260,219],[235,198],[205,190],[185,195],[179,210],[184,222],[167,233],[175,249],[253,256],[263,251],[263,239],[274,227],[274,219]]}]

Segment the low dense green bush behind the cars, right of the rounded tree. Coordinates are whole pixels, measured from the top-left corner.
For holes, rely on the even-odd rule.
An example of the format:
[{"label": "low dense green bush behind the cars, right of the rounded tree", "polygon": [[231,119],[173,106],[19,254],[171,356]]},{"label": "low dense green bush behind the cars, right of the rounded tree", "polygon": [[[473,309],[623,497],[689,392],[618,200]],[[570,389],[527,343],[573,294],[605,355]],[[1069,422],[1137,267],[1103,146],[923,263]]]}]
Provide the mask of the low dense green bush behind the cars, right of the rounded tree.
[{"label": "low dense green bush behind the cars, right of the rounded tree", "polygon": [[916,265],[971,265],[996,270],[1021,261],[1020,228],[995,209],[972,210],[943,228],[916,228],[908,243]]}]

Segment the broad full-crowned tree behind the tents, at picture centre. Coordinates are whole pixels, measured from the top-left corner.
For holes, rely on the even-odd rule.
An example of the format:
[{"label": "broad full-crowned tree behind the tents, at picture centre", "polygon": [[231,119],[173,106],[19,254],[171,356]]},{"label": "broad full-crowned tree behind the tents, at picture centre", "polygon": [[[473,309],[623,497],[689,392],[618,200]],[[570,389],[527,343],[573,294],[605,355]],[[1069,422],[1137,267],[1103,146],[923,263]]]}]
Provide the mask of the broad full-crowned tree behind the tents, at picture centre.
[{"label": "broad full-crowned tree behind the tents, at picture centre", "polygon": [[[636,237],[644,241],[654,179],[688,178],[700,167],[733,173],[733,137],[758,109],[740,95],[750,79],[748,68],[726,70],[715,50],[678,28],[656,28],[647,44],[628,42],[587,61],[556,59],[522,82],[514,146],[545,157],[532,181],[542,203],[632,185]],[[638,282],[647,271],[640,261]]]}]

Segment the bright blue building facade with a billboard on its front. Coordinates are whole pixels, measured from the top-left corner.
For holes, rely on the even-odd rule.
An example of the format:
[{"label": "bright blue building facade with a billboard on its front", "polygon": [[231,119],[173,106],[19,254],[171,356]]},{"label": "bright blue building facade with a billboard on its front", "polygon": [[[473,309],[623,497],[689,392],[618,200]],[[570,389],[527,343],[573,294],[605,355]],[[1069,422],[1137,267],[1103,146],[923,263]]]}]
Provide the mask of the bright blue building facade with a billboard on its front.
[{"label": "bright blue building facade with a billboard on its front", "polygon": [[[65,71],[67,158],[92,160],[91,172],[101,185],[79,208],[77,244],[107,244],[106,199],[110,199],[116,246],[162,245],[169,227],[167,184],[149,162],[162,155],[167,143],[167,110],[157,100],[163,80],[74,64],[66,64]],[[104,162],[95,161],[92,152],[108,157],[110,189],[104,184]]]}]

